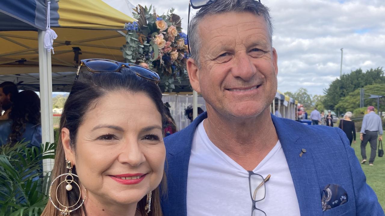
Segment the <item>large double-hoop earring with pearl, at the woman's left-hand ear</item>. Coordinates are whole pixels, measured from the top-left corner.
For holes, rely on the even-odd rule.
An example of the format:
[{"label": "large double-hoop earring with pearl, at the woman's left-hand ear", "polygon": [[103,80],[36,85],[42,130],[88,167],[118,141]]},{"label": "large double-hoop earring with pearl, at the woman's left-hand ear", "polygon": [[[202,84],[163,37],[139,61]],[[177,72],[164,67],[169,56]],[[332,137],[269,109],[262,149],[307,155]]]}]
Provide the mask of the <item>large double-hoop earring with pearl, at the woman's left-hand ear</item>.
[{"label": "large double-hoop earring with pearl, at the woman's left-hand ear", "polygon": [[[55,208],[56,208],[57,210],[60,211],[60,215],[64,215],[64,216],[69,215],[72,211],[75,211],[75,210],[79,209],[79,208],[83,205],[83,203],[84,203],[84,201],[85,201],[85,198],[87,197],[87,189],[84,188],[85,195],[84,195],[84,199],[82,200],[82,203],[80,203],[80,205],[79,205],[78,207],[76,207],[75,209],[70,209],[70,208],[74,207],[75,205],[77,205],[77,204],[79,203],[80,198],[82,197],[82,190],[80,189],[79,184],[77,184],[77,183],[74,181],[74,176],[77,177],[77,178],[79,178],[79,176],[77,176],[77,175],[75,175],[75,174],[72,174],[72,167],[73,167],[73,166],[72,166],[72,164],[71,164],[71,161],[67,160],[67,158],[66,158],[66,159],[65,159],[65,163],[66,163],[66,165],[67,165],[67,169],[69,169],[68,173],[64,173],[64,174],[61,174],[60,176],[57,176],[57,177],[54,179],[54,181],[52,181],[52,183],[51,183],[51,185],[50,185],[50,187],[49,187],[49,200],[50,200],[51,203],[55,206]],[[64,179],[64,181],[62,181],[62,182],[59,183],[59,185],[58,185],[57,188],[56,188],[56,193],[55,193],[55,194],[56,194],[56,200],[57,200],[57,202],[60,204],[60,206],[63,206],[63,207],[65,208],[64,210],[63,210],[63,209],[60,209],[59,207],[57,207],[57,206],[55,205],[55,203],[52,201],[52,196],[51,196],[52,185],[53,185],[54,182],[55,182],[57,179],[59,179],[61,176],[65,176],[65,179]],[[59,199],[57,198],[57,190],[59,189],[59,187],[60,187],[60,185],[61,185],[62,183],[67,183],[67,185],[65,186],[65,189],[66,189],[67,191],[72,190],[72,183],[75,183],[75,185],[79,188],[79,193],[80,193],[80,194],[79,194],[79,199],[78,199],[77,202],[76,202],[74,205],[72,205],[72,206],[64,206],[62,203],[60,203]]]}]

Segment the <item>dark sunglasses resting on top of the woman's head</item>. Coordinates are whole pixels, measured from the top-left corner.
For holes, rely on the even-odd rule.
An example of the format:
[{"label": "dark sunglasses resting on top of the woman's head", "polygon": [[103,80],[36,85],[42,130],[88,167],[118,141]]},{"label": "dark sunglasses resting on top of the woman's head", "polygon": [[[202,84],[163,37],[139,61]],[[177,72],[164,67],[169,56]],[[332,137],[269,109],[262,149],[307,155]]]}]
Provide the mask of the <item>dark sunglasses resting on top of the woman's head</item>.
[{"label": "dark sunglasses resting on top of the woman's head", "polygon": [[143,79],[153,81],[156,84],[161,81],[161,78],[154,71],[142,67],[140,65],[130,64],[130,63],[122,63],[119,61],[108,60],[108,59],[84,59],[80,61],[79,67],[77,68],[76,80],[79,78],[80,68],[86,67],[87,70],[93,73],[101,73],[101,72],[110,72],[115,71],[119,72],[122,67],[127,67],[132,69],[137,76],[142,77]]}]

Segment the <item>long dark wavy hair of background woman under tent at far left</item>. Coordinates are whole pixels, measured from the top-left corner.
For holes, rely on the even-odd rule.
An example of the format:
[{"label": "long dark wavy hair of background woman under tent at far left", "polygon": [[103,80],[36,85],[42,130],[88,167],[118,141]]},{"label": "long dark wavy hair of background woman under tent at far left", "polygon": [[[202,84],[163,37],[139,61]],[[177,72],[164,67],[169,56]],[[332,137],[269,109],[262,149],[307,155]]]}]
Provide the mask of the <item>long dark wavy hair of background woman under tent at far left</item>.
[{"label": "long dark wavy hair of background woman under tent at far left", "polygon": [[9,116],[12,120],[9,141],[14,145],[21,141],[27,123],[40,124],[40,98],[31,90],[18,93],[17,100],[13,102],[13,108]]}]

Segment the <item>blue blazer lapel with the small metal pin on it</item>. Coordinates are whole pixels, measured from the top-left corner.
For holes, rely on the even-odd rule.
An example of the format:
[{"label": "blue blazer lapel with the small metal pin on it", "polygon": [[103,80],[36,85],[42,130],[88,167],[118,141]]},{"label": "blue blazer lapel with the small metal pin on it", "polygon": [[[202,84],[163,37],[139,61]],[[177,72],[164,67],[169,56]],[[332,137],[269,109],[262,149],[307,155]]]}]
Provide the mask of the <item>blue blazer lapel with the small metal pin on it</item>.
[{"label": "blue blazer lapel with the small metal pin on it", "polygon": [[[273,115],[271,118],[290,169],[301,215],[322,215],[320,185],[312,156],[316,151],[312,148],[314,143],[310,143],[314,140],[301,137],[295,121]],[[306,153],[300,156],[303,149]]]}]

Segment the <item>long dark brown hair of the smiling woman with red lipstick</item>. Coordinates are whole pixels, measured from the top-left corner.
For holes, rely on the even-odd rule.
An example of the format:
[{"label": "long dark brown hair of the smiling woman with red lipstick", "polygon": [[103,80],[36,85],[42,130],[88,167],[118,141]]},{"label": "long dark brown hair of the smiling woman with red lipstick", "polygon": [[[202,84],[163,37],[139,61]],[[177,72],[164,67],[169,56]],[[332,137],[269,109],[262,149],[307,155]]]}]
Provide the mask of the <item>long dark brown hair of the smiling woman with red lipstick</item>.
[{"label": "long dark brown hair of the smiling woman with red lipstick", "polygon": [[[129,91],[132,93],[144,93],[157,107],[157,110],[164,120],[164,105],[162,102],[162,92],[156,83],[145,80],[136,75],[130,68],[122,68],[119,72],[103,72],[91,73],[83,71],[80,73],[79,79],[75,80],[72,90],[64,104],[63,113],[60,118],[59,141],[55,156],[55,165],[52,170],[52,176],[56,177],[66,173],[65,154],[62,144],[61,131],[62,128],[67,128],[70,134],[70,146],[75,150],[76,137],[79,126],[84,121],[84,117],[90,109],[97,106],[97,100],[113,91]],[[72,169],[72,173],[76,174],[76,167]],[[55,182],[52,188],[57,188],[58,183]],[[163,175],[162,188],[166,188],[165,175]],[[74,191],[74,192],[72,192]],[[142,216],[162,216],[160,206],[159,188],[152,191],[151,211],[147,214],[144,209],[146,206],[146,196],[139,201],[138,209]],[[162,189],[163,191],[163,189]],[[77,193],[77,194],[76,194]],[[72,189],[71,191],[58,191],[59,200],[67,201],[70,205],[75,204],[79,198],[79,190]],[[87,216],[84,206],[83,210],[71,212],[72,216]],[[51,204],[48,203],[45,207],[42,216],[60,215],[60,212]]]}]

